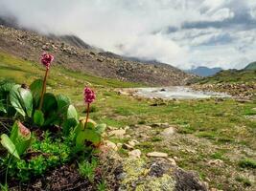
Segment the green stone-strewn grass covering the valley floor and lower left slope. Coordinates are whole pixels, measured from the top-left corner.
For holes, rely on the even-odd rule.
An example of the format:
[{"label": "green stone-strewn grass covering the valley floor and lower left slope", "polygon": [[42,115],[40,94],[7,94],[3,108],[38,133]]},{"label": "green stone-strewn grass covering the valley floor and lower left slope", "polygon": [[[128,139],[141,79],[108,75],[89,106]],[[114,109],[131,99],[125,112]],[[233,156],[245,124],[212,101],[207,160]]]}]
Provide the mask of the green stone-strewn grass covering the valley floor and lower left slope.
[{"label": "green stone-strewn grass covering the valley floor and lower left slope", "polygon": [[[43,68],[36,63],[0,53],[2,79],[9,78],[18,83],[29,84],[43,74]],[[97,101],[94,103],[96,111],[91,114],[92,118],[117,127],[169,122],[177,128],[175,139],[161,138],[159,133],[162,130],[157,128],[143,132],[143,135],[148,136],[146,140],[140,138],[141,135],[136,131],[129,130],[129,133],[132,138],[141,141],[137,148],[144,153],[153,150],[167,152],[170,157],[178,157],[178,165],[197,170],[204,180],[209,178],[213,187],[244,190],[244,182],[248,175],[253,175],[254,169],[244,170],[238,163],[244,158],[256,159],[256,122],[248,119],[256,115],[253,109],[255,102],[185,100],[169,101],[166,105],[152,107],[151,101],[118,96],[112,90],[113,87],[135,87],[138,84],[77,74],[58,67],[51,69],[49,85],[52,88],[48,91],[71,96],[82,113],[81,92],[86,82],[91,83],[97,92]],[[127,151],[121,151],[127,155]],[[209,159],[222,159],[224,167],[208,165]],[[256,189],[256,185],[251,185],[250,189]]]}]

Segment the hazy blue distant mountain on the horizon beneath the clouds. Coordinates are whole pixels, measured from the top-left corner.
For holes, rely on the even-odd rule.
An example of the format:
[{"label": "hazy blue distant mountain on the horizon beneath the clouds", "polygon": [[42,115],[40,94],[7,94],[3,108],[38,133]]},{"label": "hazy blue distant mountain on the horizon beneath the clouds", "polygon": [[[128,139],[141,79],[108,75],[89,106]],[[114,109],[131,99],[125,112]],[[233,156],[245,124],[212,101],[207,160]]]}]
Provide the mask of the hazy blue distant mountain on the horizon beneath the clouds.
[{"label": "hazy blue distant mountain on the horizon beneath the clouds", "polygon": [[185,72],[190,73],[190,74],[197,74],[199,76],[211,76],[214,74],[217,74],[221,72],[223,69],[221,68],[208,68],[204,66],[199,66],[194,69],[186,70]]}]

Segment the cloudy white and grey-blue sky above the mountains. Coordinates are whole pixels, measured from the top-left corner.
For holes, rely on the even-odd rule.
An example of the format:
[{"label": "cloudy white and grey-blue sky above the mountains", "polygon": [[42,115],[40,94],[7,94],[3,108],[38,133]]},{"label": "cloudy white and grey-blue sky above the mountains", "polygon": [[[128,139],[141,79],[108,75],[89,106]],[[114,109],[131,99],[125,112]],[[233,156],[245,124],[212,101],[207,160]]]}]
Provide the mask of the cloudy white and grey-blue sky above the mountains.
[{"label": "cloudy white and grey-blue sky above the mountains", "polygon": [[256,0],[0,0],[0,16],[180,69],[256,60]]}]

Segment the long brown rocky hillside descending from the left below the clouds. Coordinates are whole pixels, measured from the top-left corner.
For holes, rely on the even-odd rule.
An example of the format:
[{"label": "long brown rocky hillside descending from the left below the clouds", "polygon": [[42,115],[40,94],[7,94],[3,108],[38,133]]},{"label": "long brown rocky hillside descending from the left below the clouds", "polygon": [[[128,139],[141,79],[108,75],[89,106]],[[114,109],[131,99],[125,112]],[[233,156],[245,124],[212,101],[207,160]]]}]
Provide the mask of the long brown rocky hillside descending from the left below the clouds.
[{"label": "long brown rocky hillside descending from the left below the clouds", "polygon": [[147,64],[99,53],[76,36],[45,36],[0,26],[0,51],[37,61],[42,52],[56,55],[55,64],[73,71],[147,85],[183,85],[193,75],[167,64]]}]

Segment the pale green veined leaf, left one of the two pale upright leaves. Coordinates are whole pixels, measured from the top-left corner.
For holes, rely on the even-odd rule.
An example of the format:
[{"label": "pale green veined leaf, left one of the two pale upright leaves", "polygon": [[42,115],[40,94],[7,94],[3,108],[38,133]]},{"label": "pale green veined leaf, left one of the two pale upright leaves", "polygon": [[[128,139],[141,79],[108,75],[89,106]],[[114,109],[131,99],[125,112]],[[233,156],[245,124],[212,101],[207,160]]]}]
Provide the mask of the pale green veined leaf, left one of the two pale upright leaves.
[{"label": "pale green veined leaf, left one of the two pale upright leaves", "polygon": [[14,85],[10,91],[10,101],[12,107],[23,117],[26,117],[26,112],[22,107],[21,96],[19,94],[20,85]]}]

